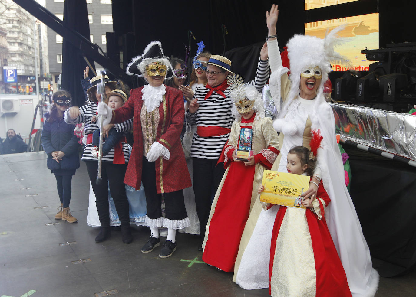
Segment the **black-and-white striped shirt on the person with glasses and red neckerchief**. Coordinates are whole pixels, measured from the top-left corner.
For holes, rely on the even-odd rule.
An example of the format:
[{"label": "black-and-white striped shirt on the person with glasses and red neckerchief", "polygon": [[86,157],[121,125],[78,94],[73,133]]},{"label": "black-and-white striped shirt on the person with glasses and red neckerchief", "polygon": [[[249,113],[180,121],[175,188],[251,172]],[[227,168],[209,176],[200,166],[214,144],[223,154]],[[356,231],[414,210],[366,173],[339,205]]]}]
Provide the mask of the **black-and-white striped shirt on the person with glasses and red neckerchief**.
[{"label": "black-and-white striped shirt on the person with glasses and red neckerchief", "polygon": [[[253,85],[261,91],[269,76],[269,62],[261,61],[257,65],[256,77],[246,85]],[[233,102],[230,96],[230,87],[223,92],[225,98],[215,91],[209,98],[204,100],[209,89],[206,87],[197,88],[193,98],[198,98],[198,110],[195,114],[186,111],[186,120],[191,125],[201,127],[219,126],[231,128],[234,122],[234,115],[231,113]],[[194,133],[191,145],[191,157],[203,159],[218,159],[221,151],[227,142],[230,134],[220,136],[201,137]]]}]

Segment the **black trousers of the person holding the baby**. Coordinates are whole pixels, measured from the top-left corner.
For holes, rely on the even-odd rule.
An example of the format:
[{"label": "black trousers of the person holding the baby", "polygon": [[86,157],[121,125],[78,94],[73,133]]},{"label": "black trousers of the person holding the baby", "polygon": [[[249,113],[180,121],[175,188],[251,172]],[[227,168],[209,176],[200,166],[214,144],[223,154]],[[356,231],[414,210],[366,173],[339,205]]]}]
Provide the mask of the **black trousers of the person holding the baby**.
[{"label": "black trousers of the person holding the baby", "polygon": [[108,203],[108,186],[116,206],[117,214],[121,227],[130,226],[129,201],[124,188],[124,175],[126,174],[127,164],[113,164],[102,162],[101,167],[101,184],[96,184],[98,162],[86,161],[89,180],[91,181],[92,190],[95,195],[95,204],[97,205],[98,217],[101,226],[110,227],[110,214]]}]

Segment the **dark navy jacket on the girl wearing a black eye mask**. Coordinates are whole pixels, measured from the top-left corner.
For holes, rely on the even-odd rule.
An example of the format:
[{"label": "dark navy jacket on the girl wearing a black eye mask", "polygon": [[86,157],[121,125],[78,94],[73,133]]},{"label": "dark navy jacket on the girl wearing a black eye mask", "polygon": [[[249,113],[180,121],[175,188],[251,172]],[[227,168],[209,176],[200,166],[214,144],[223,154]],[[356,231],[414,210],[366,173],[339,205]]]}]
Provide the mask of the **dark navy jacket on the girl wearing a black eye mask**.
[{"label": "dark navy jacket on the girl wearing a black eye mask", "polygon": [[[45,113],[45,124],[43,125],[42,146],[48,155],[47,167],[56,169],[77,169],[79,168],[78,147],[79,138],[74,135],[75,125],[65,123],[64,119],[48,122],[49,113]],[[52,158],[52,152],[62,151],[65,153],[62,160],[56,162]]]}]

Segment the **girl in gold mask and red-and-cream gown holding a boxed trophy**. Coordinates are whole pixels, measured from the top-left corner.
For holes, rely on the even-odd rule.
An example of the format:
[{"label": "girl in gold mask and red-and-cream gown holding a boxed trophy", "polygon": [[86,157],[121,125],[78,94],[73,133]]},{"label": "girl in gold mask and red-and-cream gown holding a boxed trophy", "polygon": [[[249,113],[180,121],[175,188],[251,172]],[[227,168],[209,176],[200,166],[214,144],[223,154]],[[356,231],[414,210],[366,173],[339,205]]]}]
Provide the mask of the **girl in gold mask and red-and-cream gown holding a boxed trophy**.
[{"label": "girl in gold mask and red-and-cream gown holding a boxed trophy", "polygon": [[234,270],[245,222],[258,199],[263,170],[270,169],[279,154],[277,133],[272,120],[265,118],[261,94],[254,86],[244,86],[238,76],[229,76],[228,84],[232,86],[235,121],[221,156],[226,171],[211,207],[202,256],[204,262],[226,272]]}]

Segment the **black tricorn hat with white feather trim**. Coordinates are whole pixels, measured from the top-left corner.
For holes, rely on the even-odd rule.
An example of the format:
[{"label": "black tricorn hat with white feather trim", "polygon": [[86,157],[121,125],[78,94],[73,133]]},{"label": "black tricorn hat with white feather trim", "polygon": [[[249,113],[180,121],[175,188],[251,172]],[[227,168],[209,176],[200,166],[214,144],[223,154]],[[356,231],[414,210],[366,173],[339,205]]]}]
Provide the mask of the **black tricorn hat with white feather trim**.
[{"label": "black tricorn hat with white feather trim", "polygon": [[160,41],[152,41],[144,49],[143,54],[133,58],[129,65],[127,65],[126,73],[142,77],[146,72],[146,66],[152,62],[161,62],[166,66],[166,78],[173,75],[171,63],[168,57],[163,54],[162,43]]}]

